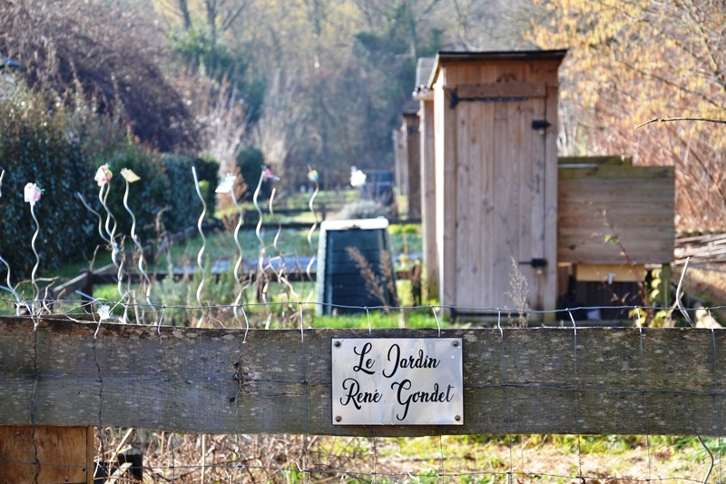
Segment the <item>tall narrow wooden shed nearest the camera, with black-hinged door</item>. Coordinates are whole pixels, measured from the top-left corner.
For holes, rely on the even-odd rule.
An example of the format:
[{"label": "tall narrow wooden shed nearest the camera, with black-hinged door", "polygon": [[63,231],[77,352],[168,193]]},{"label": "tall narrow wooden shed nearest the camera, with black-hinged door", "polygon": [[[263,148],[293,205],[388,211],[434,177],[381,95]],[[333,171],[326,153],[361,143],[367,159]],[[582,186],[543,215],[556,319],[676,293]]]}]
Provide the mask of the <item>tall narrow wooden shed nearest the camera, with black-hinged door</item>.
[{"label": "tall narrow wooden shed nearest the camera, with black-hinged door", "polygon": [[[555,309],[557,69],[565,54],[437,55],[427,90],[443,305]],[[525,281],[518,289],[517,277]]]}]

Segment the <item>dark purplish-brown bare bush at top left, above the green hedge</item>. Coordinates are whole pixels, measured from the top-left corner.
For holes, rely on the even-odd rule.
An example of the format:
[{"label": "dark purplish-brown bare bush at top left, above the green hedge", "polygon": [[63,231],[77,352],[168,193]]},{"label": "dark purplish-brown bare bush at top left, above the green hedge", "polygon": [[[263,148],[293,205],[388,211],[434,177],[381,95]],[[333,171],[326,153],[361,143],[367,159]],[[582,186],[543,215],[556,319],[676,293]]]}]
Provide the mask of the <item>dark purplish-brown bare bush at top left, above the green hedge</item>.
[{"label": "dark purplish-brown bare bush at top left, above the green hedge", "polygon": [[162,72],[151,23],[117,6],[83,0],[0,2],[0,55],[25,82],[53,96],[80,93],[114,112],[163,151],[196,148],[196,126]]}]

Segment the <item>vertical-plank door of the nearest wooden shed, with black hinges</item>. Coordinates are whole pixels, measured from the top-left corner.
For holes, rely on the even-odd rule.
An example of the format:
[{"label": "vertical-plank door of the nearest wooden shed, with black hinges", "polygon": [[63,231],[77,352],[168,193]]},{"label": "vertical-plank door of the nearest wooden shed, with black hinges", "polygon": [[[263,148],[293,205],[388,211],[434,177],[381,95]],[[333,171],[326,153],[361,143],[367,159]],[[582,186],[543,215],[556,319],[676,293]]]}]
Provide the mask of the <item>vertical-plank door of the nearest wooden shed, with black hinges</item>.
[{"label": "vertical-plank door of the nearest wooden shed, with black hinges", "polygon": [[546,120],[545,109],[534,96],[456,105],[459,306],[543,308],[532,262],[546,258],[546,136],[532,122]]}]

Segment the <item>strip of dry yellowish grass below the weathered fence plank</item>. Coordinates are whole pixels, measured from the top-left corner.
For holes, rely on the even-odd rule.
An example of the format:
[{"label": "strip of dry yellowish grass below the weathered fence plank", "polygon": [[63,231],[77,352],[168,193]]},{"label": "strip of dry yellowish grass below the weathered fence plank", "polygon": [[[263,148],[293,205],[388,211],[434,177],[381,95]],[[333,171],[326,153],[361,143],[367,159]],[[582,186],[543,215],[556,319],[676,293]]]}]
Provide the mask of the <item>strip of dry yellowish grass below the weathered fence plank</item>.
[{"label": "strip of dry yellowish grass below the weathered fence plank", "polygon": [[[107,430],[110,456],[123,432]],[[712,444],[712,443],[711,443]],[[202,436],[134,431],[144,482],[703,482],[710,459],[695,439],[643,436],[351,438]],[[307,452],[304,449],[307,447]],[[202,449],[204,457],[202,458]],[[124,449],[121,449],[122,451]],[[718,453],[714,450],[718,458]],[[309,469],[306,475],[302,469]],[[203,479],[202,479],[203,474]],[[583,476],[584,479],[578,479]],[[721,482],[716,462],[709,482]],[[131,482],[128,480],[127,482]]]}]

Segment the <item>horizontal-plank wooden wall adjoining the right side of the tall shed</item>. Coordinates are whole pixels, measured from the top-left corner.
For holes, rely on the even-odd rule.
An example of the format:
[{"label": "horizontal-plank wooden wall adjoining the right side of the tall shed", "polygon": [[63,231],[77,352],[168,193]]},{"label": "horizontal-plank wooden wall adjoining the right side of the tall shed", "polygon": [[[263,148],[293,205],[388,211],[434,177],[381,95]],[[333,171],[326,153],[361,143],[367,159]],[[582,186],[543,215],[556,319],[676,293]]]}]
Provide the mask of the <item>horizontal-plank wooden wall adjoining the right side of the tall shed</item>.
[{"label": "horizontal-plank wooden wall adjoining the right side of the tall shed", "polygon": [[633,263],[672,262],[674,167],[561,158],[559,183],[559,262],[623,264],[623,251]]}]

